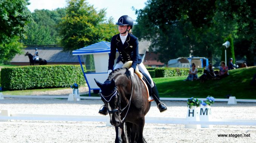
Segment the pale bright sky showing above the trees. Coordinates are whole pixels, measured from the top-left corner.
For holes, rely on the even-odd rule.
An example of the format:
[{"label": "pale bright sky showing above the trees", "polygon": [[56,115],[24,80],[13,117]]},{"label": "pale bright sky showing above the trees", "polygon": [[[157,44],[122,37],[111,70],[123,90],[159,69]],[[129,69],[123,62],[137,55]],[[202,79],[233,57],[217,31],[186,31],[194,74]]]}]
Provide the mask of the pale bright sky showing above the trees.
[{"label": "pale bright sky showing above the trees", "polygon": [[[35,9],[54,10],[66,6],[66,0],[29,0],[29,2],[30,5],[27,7],[31,12]],[[143,9],[147,0],[87,0],[87,2],[97,11],[106,8],[106,18],[113,17],[116,23],[122,15],[128,15],[136,20],[137,16],[132,6],[135,9]]]}]

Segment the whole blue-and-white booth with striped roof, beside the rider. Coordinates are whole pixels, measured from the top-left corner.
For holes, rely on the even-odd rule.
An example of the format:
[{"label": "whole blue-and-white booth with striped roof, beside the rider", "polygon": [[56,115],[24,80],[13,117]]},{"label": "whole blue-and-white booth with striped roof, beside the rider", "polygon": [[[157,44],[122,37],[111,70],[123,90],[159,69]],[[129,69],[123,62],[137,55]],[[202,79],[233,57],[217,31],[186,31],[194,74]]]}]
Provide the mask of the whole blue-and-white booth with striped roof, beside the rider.
[{"label": "whole blue-and-white booth with striped roof, beside the rider", "polygon": [[[91,95],[91,90],[99,90],[99,87],[94,81],[94,78],[103,83],[108,77],[108,58],[110,53],[110,42],[101,41],[95,44],[80,48],[78,50],[72,51],[72,55],[77,55],[83,75],[85,77],[86,83],[89,87],[89,96]],[[83,70],[82,62],[79,55],[93,54],[94,65],[96,73],[86,74]],[[116,57],[119,56],[117,52]]]}]

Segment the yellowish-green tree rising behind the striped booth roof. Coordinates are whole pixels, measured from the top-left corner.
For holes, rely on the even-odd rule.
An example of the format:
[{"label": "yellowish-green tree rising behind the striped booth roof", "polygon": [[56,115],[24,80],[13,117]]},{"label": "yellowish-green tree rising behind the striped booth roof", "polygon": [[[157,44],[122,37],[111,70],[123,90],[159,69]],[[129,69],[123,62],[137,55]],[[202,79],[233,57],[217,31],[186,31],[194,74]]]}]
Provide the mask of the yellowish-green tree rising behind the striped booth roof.
[{"label": "yellowish-green tree rising behind the striped booth roof", "polygon": [[105,22],[105,9],[98,12],[85,0],[69,0],[66,17],[60,23],[60,35],[65,51],[110,41],[116,29],[113,18]]}]

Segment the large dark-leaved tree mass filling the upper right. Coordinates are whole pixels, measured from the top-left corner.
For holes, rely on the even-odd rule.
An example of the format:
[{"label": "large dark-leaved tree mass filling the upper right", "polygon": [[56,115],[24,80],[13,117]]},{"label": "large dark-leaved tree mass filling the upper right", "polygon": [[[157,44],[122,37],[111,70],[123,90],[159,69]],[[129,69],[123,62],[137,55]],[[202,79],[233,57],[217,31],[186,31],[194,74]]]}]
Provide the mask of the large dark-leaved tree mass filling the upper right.
[{"label": "large dark-leaved tree mass filling the upper right", "polygon": [[[221,44],[228,35],[233,35],[237,41],[247,41],[248,46],[242,48],[250,53],[247,54],[249,59],[256,53],[256,11],[253,5],[256,5],[255,1],[244,0],[148,0],[144,9],[136,10],[138,24],[134,34],[139,39],[161,41],[153,47],[160,52],[160,61],[165,63],[167,59],[162,59],[162,56],[168,51],[169,58],[184,54],[179,54],[178,49],[193,51],[192,55],[208,57],[213,62],[214,57],[221,56]],[[184,39],[168,40],[177,35],[177,30],[170,30],[173,27],[179,27],[180,39]],[[170,46],[167,50],[163,45]]]}]

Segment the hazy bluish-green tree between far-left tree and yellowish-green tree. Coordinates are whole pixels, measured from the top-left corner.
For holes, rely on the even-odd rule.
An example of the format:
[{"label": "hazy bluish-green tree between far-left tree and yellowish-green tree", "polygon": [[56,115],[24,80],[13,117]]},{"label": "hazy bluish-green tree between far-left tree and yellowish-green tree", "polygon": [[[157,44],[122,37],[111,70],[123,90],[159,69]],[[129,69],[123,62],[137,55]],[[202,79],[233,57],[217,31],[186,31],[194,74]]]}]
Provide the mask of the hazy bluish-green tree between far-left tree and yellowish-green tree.
[{"label": "hazy bluish-green tree between far-left tree and yellowish-green tree", "polygon": [[32,21],[27,25],[26,45],[60,45],[61,37],[58,33],[58,24],[66,16],[66,9],[58,8],[53,11],[35,10]]}]

